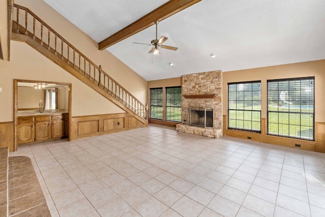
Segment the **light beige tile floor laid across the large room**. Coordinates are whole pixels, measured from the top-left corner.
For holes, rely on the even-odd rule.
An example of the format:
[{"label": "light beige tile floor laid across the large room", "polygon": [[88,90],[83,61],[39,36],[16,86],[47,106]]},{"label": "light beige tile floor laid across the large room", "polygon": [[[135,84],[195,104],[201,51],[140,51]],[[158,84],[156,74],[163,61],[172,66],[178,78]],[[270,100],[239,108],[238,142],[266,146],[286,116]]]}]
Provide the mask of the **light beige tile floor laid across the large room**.
[{"label": "light beige tile floor laid across the large room", "polygon": [[52,216],[325,216],[325,154],[148,128],[19,146]]}]

